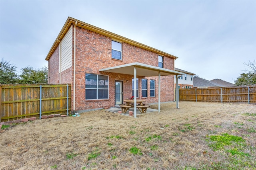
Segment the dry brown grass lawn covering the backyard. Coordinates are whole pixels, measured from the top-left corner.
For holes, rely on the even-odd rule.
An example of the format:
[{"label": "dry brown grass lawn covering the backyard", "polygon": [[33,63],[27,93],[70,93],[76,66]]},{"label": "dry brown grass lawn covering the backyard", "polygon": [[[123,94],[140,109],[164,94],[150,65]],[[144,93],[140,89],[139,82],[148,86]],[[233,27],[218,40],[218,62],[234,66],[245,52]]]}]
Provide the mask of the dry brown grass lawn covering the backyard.
[{"label": "dry brown grass lawn covering the backyard", "polygon": [[234,162],[225,162],[230,155],[213,151],[206,138],[222,133],[246,140],[251,157],[242,167],[256,168],[256,133],[248,131],[256,129],[256,116],[243,114],[256,113],[256,105],[180,102],[175,108],[161,104],[160,113],[138,118],[98,110],[16,125],[0,133],[0,169],[218,169]]}]

